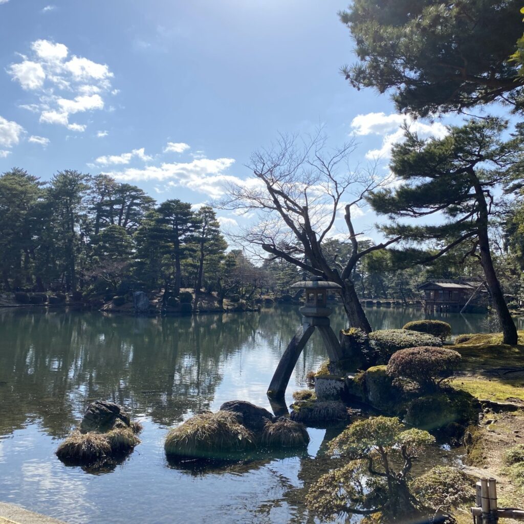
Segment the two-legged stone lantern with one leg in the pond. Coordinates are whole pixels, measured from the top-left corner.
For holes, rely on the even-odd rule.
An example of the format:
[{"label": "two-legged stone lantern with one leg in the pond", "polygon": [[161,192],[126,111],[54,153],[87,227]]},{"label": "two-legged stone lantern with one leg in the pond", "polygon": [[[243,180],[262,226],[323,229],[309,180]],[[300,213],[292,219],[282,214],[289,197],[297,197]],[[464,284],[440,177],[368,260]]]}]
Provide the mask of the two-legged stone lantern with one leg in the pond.
[{"label": "two-legged stone lantern with one leg in the pond", "polygon": [[267,391],[270,398],[276,399],[283,398],[293,368],[315,328],[320,331],[330,360],[338,362],[342,358],[339,340],[330,326],[328,317],[332,310],[328,308],[327,302],[328,290],[341,289],[341,286],[320,277],[312,277],[311,280],[296,282],[291,287],[305,290],[305,305],[300,308],[302,325],[282,355]]}]

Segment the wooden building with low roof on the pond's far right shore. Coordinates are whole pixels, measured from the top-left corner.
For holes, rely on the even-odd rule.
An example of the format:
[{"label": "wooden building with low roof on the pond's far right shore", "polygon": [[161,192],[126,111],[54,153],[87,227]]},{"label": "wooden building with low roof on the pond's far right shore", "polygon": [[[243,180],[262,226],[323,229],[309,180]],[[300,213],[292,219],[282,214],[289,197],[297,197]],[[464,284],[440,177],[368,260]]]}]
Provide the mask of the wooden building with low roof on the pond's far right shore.
[{"label": "wooden building with low roof on the pond's far right shore", "polygon": [[428,311],[461,311],[484,313],[487,311],[489,293],[482,280],[435,279],[418,287],[423,293],[424,309]]}]

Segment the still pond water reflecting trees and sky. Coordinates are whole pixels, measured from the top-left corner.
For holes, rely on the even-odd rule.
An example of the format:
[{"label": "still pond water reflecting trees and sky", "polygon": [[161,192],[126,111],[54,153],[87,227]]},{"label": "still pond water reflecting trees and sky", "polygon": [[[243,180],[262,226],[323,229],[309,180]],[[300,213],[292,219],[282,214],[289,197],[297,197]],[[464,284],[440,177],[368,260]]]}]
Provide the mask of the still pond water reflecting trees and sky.
[{"label": "still pond water reflecting trees and sky", "polygon": [[[418,309],[367,314],[375,329],[423,316]],[[456,334],[485,331],[484,315],[436,318]],[[331,320],[335,330],[345,327],[341,308]],[[309,429],[308,451],[299,456],[222,470],[181,470],[163,455],[167,429],[193,413],[234,399],[270,409],[269,381],[299,323],[296,306],[185,318],[0,310],[0,501],[71,524],[314,522],[303,497],[329,467],[329,430]],[[325,358],[314,333],[291,377],[288,405]],[[62,465],[53,452],[96,399],[121,403],[144,431],[126,461],[92,474]]]}]

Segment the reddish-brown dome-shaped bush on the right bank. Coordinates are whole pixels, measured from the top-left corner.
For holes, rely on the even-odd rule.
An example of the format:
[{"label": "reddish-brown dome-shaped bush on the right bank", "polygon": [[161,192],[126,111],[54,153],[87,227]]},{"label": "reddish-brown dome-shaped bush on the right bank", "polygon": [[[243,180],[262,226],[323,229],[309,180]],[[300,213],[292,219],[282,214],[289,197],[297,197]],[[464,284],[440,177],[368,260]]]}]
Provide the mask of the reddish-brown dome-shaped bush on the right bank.
[{"label": "reddish-brown dome-shaped bush on the right bank", "polygon": [[461,360],[460,353],[444,347],[410,347],[391,356],[386,373],[395,378],[413,380],[423,391],[431,392],[451,376]]}]

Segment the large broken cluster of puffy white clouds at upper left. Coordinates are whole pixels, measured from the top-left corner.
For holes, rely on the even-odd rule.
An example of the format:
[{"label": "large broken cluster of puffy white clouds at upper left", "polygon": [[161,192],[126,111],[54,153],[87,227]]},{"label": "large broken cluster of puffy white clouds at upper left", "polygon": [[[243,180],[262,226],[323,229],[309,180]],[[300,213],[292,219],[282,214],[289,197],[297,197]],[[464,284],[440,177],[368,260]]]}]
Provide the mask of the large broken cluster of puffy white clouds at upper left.
[{"label": "large broken cluster of puffy white clouds at upper left", "polygon": [[69,115],[103,110],[113,73],[106,64],[70,55],[63,43],[35,40],[31,53],[20,54],[21,61],[7,68],[12,80],[36,97],[20,107],[40,113],[40,122],[84,130],[86,125],[70,123]]}]

